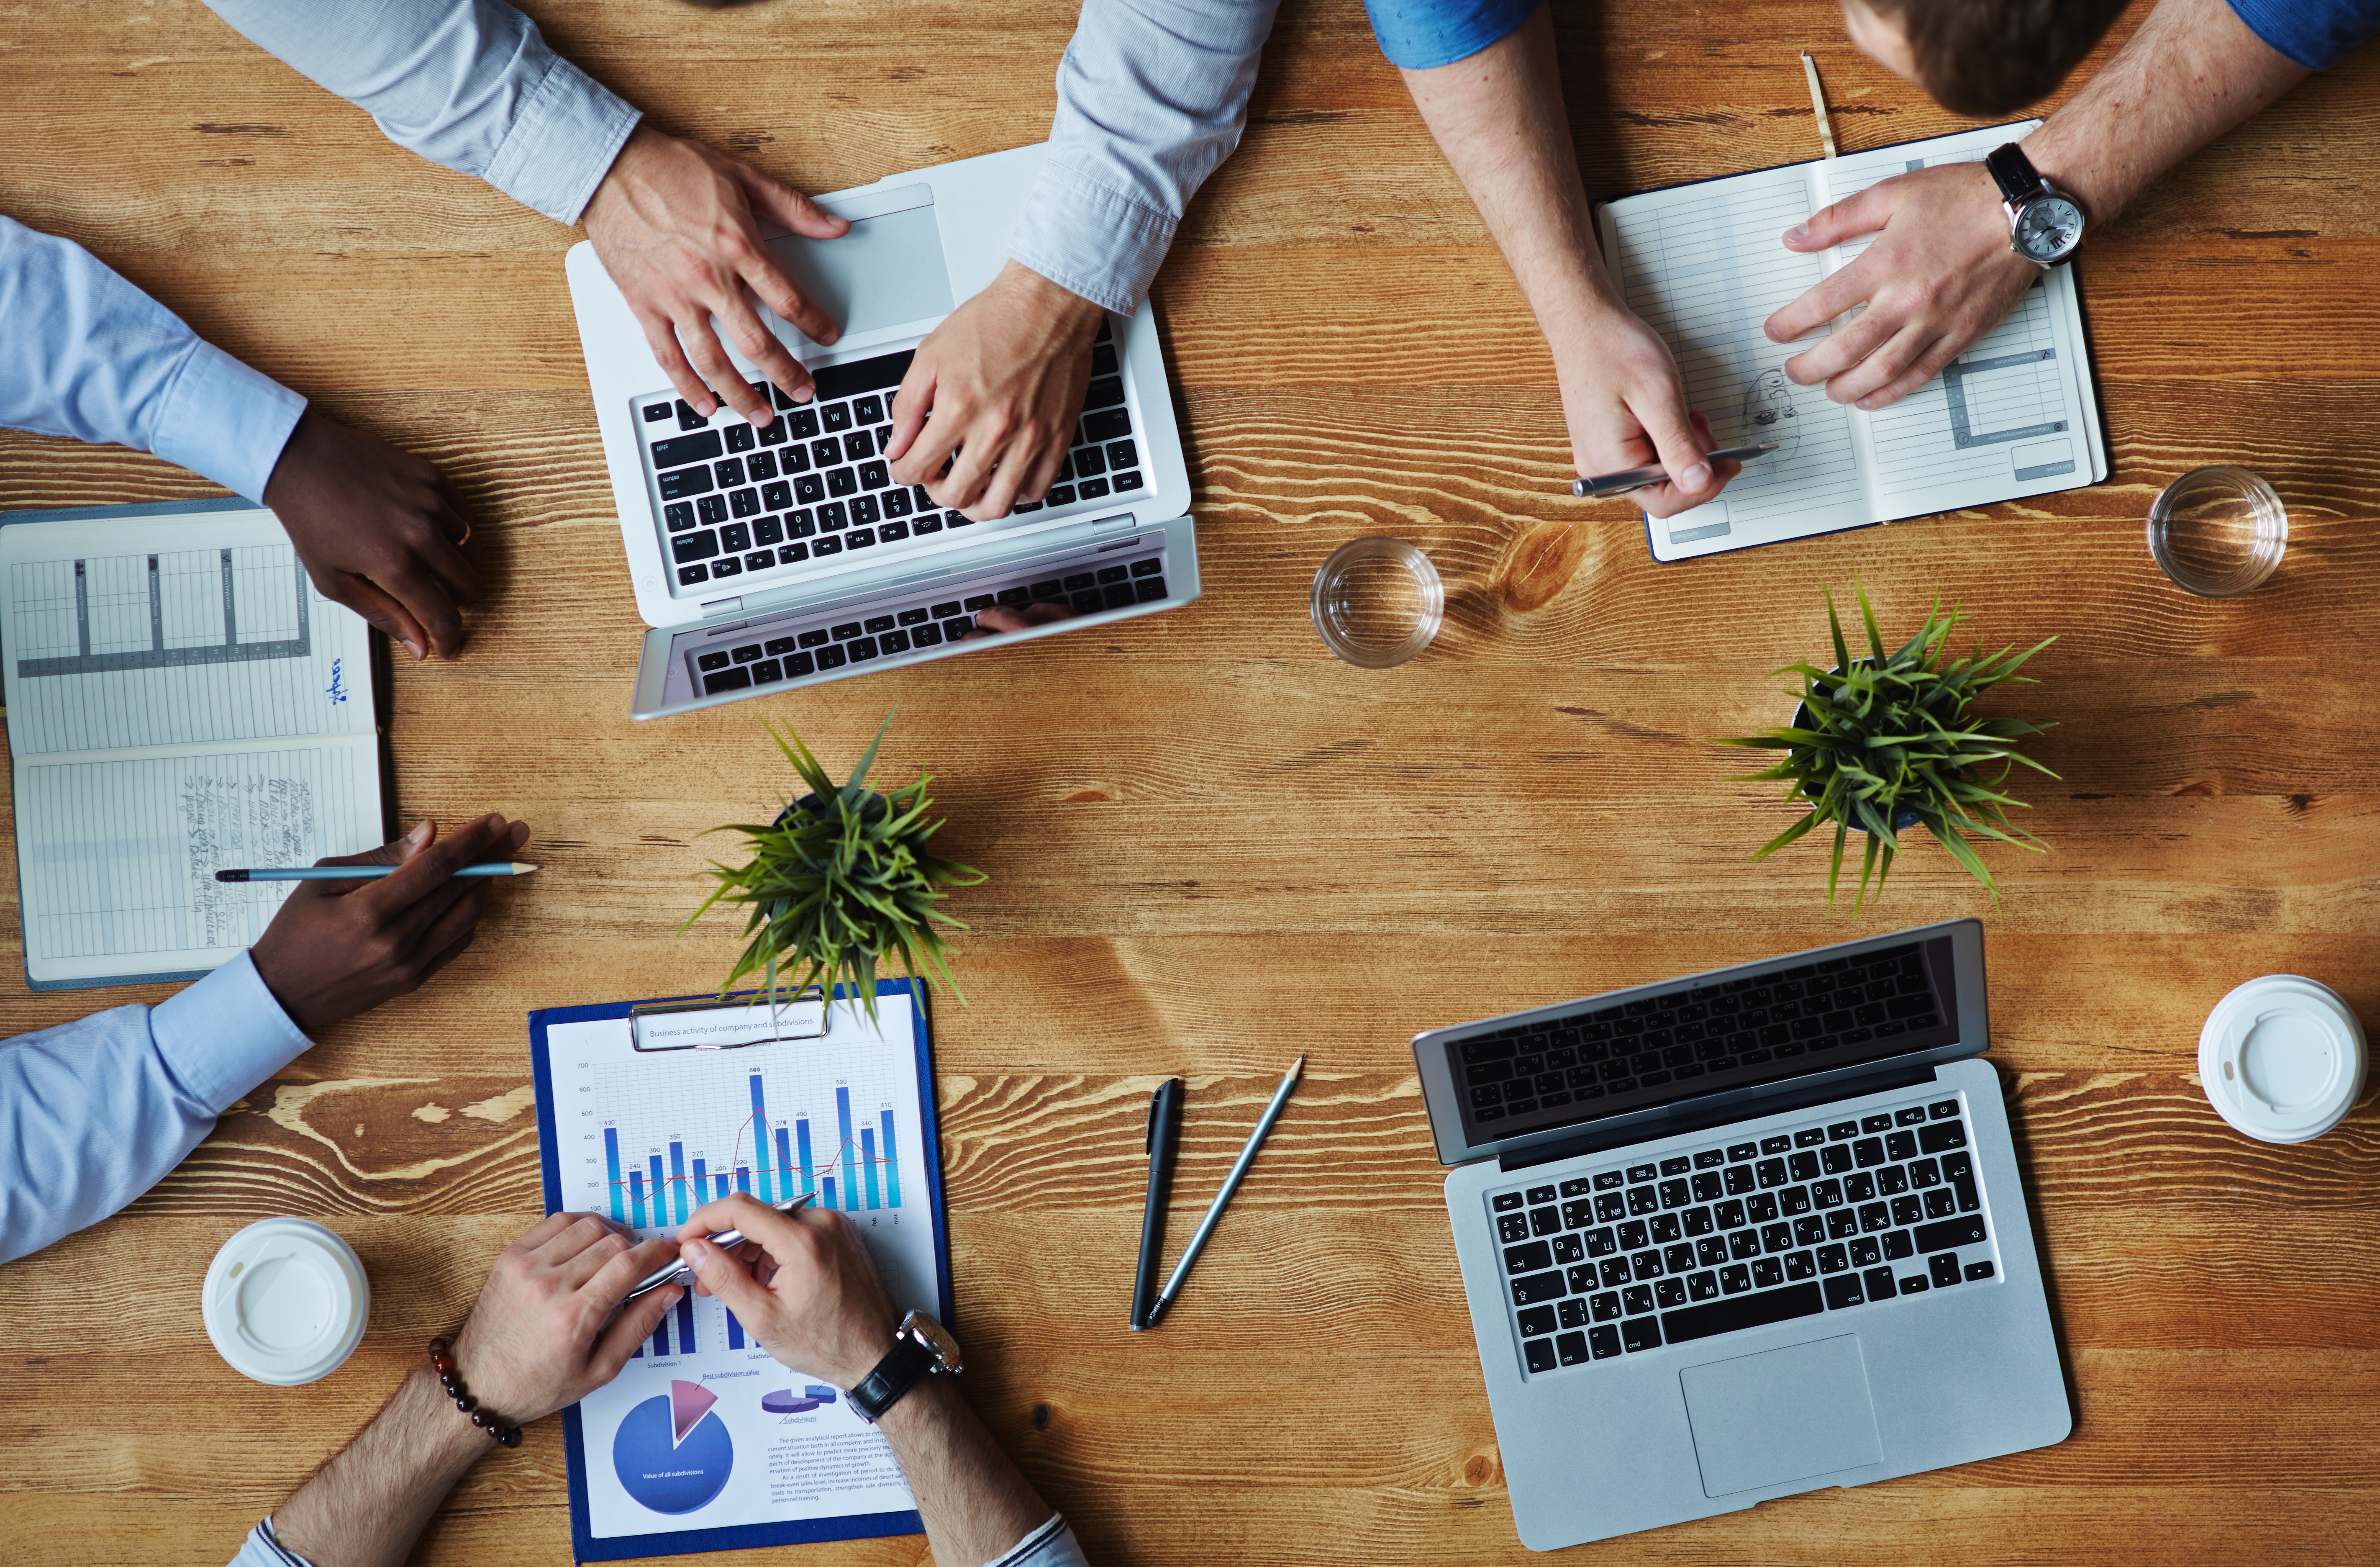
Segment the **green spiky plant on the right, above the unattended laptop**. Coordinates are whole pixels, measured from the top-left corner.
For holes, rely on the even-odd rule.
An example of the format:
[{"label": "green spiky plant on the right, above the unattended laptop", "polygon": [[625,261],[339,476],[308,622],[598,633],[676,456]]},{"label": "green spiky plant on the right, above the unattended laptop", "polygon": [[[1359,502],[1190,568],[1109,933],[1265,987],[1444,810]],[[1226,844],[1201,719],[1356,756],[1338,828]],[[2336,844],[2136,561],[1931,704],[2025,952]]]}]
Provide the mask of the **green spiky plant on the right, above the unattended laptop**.
[{"label": "green spiky plant on the right, above the unattended laptop", "polygon": [[[1799,822],[1780,831],[1754,860],[1766,860],[1787,843],[1802,838],[1823,822],[1835,824],[1835,855],[1825,869],[1825,907],[1835,907],[1835,886],[1842,879],[1842,845],[1849,834],[1868,834],[1868,853],[1859,864],[1859,893],[1852,910],[1866,905],[1868,881],[1875,895],[1885,891],[1892,860],[1902,853],[1899,834],[1923,826],[1999,900],[1999,884],[1983,864],[1983,855],[1968,836],[1999,838],[2028,850],[2047,845],[2033,834],[2009,824],[2009,807],[2023,807],[2002,793],[2016,764],[2056,776],[2040,762],[2016,750],[2030,733],[2054,729],[2054,724],[2028,724],[2025,719],[1973,719],[1968,707],[2002,681],[2033,683],[2018,669],[2035,653],[2054,643],[2044,638],[2025,653],[2002,648],[1999,653],[1944,662],[1952,626],[1964,614],[1942,612],[1935,598],[1918,629],[1897,650],[1885,653],[1885,638],[1875,631],[1875,610],[1868,595],[1854,583],[1859,595],[1859,619],[1868,631],[1868,655],[1852,657],[1842,641],[1842,619],[1835,614],[1835,595],[1825,595],[1825,624],[1835,636],[1835,667],[1785,664],[1773,674],[1802,676],[1802,710],[1785,729],[1718,741],[1721,745],[1747,745],[1752,750],[1783,750],[1785,760],[1768,772],[1756,772],[1730,784],[1785,781],[1785,800],[1802,800],[1809,810]],[[1997,764],[1999,772],[1985,776]]]}]

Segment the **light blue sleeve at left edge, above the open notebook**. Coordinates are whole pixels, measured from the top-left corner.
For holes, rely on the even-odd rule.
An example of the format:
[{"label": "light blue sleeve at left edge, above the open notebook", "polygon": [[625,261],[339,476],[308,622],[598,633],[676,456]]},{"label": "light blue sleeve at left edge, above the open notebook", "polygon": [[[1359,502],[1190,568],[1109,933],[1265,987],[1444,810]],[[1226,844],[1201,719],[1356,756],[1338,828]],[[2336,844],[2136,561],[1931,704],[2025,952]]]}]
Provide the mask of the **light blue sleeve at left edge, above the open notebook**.
[{"label": "light blue sleeve at left edge, above the open notebook", "polygon": [[305,398],[74,241],[0,217],[0,424],[157,452],[264,500]]}]

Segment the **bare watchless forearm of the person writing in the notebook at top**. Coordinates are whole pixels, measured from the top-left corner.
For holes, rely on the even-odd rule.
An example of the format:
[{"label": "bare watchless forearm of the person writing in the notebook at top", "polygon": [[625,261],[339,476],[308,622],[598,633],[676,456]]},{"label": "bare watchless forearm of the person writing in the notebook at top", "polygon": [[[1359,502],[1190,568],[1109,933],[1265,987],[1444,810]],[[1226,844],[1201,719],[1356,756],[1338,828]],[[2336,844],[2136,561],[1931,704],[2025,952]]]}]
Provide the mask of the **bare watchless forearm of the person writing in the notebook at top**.
[{"label": "bare watchless forearm of the person writing in the notebook at top", "polygon": [[1404,71],[1421,119],[1504,252],[1557,367],[1626,310],[1595,245],[1549,7],[1468,60]]}]

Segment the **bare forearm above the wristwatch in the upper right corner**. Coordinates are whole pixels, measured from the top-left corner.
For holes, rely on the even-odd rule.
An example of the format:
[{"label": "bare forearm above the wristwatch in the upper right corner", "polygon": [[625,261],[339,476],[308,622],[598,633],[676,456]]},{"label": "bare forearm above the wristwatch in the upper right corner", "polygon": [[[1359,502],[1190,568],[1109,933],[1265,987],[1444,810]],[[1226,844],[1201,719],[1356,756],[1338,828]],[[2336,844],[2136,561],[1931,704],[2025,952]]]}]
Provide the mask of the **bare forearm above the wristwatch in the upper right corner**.
[{"label": "bare forearm above the wristwatch in the upper right corner", "polygon": [[2159,174],[2306,79],[2225,0],[2161,0],[2073,102],[2025,141],[2097,229]]}]

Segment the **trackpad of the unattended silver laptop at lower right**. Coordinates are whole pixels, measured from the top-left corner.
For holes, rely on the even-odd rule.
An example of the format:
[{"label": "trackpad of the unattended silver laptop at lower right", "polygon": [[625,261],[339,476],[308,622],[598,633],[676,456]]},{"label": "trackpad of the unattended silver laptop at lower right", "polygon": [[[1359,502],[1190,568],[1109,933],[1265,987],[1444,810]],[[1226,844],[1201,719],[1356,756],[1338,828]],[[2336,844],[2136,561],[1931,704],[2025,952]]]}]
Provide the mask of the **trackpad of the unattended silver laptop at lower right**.
[{"label": "trackpad of the unattended silver laptop at lower right", "polygon": [[1678,1374],[1702,1493],[1733,1496],[1883,1462],[1859,1334]]}]

